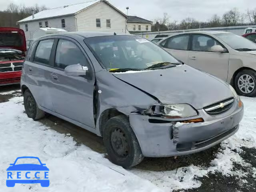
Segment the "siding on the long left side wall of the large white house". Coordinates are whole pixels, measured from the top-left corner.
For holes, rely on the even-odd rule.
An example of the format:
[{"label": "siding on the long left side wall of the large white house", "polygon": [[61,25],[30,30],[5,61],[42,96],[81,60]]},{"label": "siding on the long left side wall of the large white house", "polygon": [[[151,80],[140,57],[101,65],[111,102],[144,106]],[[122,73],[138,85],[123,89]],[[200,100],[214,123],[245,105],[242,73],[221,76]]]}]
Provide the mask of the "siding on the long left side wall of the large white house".
[{"label": "siding on the long left side wall of the large white house", "polygon": [[[62,28],[61,20],[65,19],[65,27]],[[42,22],[43,28],[45,27],[45,22],[48,21],[48,27],[61,28],[66,31],[76,31],[76,20],[73,15],[71,16],[60,16],[56,18],[42,19],[36,21],[28,21],[20,23],[20,29],[24,30],[26,39],[33,39],[33,34],[39,28],[39,22]],[[28,31],[25,29],[25,24],[28,24]]]}]

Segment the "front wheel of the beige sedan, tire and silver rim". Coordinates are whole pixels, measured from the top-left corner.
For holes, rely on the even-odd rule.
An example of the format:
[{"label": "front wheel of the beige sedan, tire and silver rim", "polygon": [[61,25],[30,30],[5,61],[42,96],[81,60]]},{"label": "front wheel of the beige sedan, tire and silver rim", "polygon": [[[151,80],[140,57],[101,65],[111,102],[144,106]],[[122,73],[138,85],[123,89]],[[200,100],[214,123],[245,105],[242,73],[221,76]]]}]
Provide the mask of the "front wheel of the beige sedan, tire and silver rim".
[{"label": "front wheel of the beige sedan, tire and silver rim", "polygon": [[253,70],[242,70],[235,78],[236,92],[242,96],[256,96],[256,72]]}]

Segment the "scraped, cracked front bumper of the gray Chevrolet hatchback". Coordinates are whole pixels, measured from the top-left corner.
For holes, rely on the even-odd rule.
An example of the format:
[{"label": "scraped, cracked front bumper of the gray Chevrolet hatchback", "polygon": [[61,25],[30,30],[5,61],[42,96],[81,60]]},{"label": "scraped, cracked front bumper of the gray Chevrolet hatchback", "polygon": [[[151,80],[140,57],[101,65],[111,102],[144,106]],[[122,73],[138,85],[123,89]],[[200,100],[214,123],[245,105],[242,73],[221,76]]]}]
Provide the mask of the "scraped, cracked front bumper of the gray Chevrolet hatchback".
[{"label": "scraped, cracked front bumper of the gray Chevrolet hatchback", "polygon": [[[230,113],[230,111],[233,111]],[[130,124],[146,157],[168,157],[192,154],[206,150],[235,134],[244,114],[243,106],[235,102],[232,109],[222,115],[210,116],[203,109],[198,110],[204,122],[182,124],[162,118],[150,121],[152,117],[140,114],[130,115]],[[154,119],[156,120],[156,119]],[[163,121],[164,120],[164,121]],[[156,123],[155,123],[156,122]]]}]

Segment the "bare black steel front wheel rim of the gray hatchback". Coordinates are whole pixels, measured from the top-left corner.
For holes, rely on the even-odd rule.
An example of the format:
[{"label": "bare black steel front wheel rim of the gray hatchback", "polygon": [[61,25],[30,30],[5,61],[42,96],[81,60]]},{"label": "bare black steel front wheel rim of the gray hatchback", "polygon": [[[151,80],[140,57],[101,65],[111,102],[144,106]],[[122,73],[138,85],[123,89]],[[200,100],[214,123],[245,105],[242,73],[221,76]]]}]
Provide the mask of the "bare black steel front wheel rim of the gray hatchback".
[{"label": "bare black steel front wheel rim of the gray hatchback", "polygon": [[126,135],[120,128],[116,128],[111,134],[111,145],[115,153],[125,158],[129,154],[129,145]]}]

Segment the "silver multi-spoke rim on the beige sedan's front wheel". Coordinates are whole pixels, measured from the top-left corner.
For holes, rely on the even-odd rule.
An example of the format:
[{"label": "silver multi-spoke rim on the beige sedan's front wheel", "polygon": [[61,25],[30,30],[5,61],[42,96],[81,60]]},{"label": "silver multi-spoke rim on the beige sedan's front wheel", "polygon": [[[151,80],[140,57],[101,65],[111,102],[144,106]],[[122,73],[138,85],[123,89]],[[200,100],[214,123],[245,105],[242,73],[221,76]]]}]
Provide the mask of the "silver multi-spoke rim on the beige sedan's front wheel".
[{"label": "silver multi-spoke rim on the beige sedan's front wheel", "polygon": [[252,76],[244,74],[238,79],[238,88],[243,93],[251,93],[255,88],[255,82]]}]

